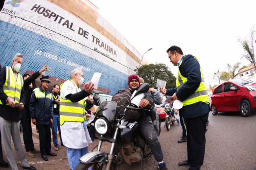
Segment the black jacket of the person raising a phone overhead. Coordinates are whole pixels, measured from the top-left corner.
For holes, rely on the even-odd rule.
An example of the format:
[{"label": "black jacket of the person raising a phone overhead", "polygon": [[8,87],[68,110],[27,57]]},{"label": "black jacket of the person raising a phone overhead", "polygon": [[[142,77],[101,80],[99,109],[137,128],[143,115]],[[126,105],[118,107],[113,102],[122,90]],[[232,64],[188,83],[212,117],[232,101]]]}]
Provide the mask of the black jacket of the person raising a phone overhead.
[{"label": "black jacket of the person raising a phone overhead", "polygon": [[32,90],[29,87],[29,84],[35,81],[40,76],[39,72],[33,73],[33,75],[29,76],[26,80],[24,80],[24,84],[22,87],[21,94],[24,93],[25,98],[21,98],[21,102],[24,104],[24,107],[29,110],[29,101],[32,94]]}]

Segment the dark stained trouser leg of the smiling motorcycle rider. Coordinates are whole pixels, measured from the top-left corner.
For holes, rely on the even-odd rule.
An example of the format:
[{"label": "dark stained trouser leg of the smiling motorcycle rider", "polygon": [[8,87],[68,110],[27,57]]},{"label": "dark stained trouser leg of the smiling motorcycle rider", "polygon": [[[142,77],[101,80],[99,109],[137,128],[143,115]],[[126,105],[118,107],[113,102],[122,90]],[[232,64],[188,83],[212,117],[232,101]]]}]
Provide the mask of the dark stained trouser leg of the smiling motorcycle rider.
[{"label": "dark stained trouser leg of the smiling motorcycle rider", "polygon": [[154,130],[153,122],[150,116],[144,116],[139,121],[139,126],[142,135],[146,138],[149,144],[154,158],[157,162],[163,161],[163,152],[159,140],[156,137],[156,131]]}]

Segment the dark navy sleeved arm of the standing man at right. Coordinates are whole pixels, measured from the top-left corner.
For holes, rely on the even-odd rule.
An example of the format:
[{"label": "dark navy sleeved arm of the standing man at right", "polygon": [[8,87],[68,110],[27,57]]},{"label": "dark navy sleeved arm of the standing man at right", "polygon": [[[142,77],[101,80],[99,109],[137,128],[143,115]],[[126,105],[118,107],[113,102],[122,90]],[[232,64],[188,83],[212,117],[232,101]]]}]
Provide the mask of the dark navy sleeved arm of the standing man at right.
[{"label": "dark navy sleeved arm of the standing man at right", "polygon": [[184,101],[193,94],[201,83],[199,62],[192,55],[187,55],[183,60],[180,72],[182,76],[188,77],[188,81],[176,93],[180,101]]}]

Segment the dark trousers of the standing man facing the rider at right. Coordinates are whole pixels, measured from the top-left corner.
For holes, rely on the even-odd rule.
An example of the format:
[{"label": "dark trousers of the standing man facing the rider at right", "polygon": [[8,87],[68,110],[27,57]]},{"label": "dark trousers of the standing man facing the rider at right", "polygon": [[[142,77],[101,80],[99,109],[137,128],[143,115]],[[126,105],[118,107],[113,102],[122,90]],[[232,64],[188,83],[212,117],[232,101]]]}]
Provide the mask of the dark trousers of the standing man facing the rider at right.
[{"label": "dark trousers of the standing man facing the rider at right", "polygon": [[205,132],[209,113],[186,119],[189,170],[199,170],[205,157]]}]

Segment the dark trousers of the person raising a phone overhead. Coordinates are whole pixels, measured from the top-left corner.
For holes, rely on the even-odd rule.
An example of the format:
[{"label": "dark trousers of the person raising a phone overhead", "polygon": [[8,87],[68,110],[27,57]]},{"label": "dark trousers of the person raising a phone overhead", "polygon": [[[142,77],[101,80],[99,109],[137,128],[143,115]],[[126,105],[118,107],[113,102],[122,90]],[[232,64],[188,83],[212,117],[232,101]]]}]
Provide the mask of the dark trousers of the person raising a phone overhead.
[{"label": "dark trousers of the person raising a phone overhead", "polygon": [[21,111],[21,125],[23,128],[23,141],[26,152],[34,151],[34,143],[32,139],[31,117],[29,110],[24,108]]}]

